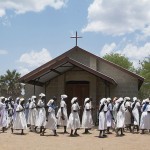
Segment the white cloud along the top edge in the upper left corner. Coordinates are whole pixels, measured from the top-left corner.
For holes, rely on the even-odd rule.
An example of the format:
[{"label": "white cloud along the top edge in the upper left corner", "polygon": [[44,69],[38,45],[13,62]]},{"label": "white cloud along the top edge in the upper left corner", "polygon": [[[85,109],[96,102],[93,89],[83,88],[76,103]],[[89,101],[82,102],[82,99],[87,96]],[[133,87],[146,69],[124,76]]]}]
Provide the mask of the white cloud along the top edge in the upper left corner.
[{"label": "white cloud along the top edge in the upper left corner", "polygon": [[40,12],[47,6],[60,9],[68,0],[1,0],[0,17],[6,14],[6,10],[14,10],[17,14],[29,11]]}]

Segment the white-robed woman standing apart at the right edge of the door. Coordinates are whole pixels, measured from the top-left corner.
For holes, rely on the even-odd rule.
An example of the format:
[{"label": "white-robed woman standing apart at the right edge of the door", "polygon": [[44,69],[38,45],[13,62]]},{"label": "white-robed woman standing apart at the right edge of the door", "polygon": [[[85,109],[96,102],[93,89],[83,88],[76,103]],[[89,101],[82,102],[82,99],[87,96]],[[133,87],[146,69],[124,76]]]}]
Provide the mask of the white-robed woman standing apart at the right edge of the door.
[{"label": "white-robed woman standing apart at the right edge of the door", "polygon": [[82,115],[82,128],[85,129],[84,134],[89,134],[90,130],[93,127],[93,119],[92,119],[92,112],[91,112],[91,102],[90,98],[85,98],[84,100],[84,111]]}]

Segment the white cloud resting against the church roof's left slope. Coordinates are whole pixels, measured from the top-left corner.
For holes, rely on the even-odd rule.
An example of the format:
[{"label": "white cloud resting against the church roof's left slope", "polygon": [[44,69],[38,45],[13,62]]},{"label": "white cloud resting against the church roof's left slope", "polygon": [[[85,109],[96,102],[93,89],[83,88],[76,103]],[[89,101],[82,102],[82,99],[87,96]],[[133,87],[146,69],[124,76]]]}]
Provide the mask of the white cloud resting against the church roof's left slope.
[{"label": "white cloud resting against the church roof's left slope", "polygon": [[19,58],[19,72],[24,75],[29,71],[45,64],[52,59],[49,51],[43,48],[41,51],[31,51],[24,53]]}]

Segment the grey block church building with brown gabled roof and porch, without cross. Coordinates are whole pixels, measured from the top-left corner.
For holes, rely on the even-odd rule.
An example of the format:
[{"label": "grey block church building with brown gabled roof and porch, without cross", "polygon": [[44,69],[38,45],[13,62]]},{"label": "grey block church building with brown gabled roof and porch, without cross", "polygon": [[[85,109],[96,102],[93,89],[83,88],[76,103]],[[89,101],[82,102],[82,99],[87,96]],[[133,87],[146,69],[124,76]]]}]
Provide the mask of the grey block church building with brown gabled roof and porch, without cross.
[{"label": "grey block church building with brown gabled roof and porch, without cross", "polygon": [[[26,98],[43,92],[47,101],[56,96],[59,104],[60,95],[67,94],[68,113],[72,97],[78,97],[81,108],[84,99],[91,97],[97,107],[103,97],[137,96],[143,81],[141,76],[78,46],[20,78],[26,84]],[[96,119],[96,111],[93,115]]]}]

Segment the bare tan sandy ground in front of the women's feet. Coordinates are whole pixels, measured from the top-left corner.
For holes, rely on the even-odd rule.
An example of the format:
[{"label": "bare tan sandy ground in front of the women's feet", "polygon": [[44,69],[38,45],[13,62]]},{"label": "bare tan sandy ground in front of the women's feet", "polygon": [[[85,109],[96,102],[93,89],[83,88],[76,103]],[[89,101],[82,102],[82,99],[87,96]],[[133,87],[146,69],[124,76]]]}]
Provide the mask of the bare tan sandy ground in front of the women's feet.
[{"label": "bare tan sandy ground in front of the women's feet", "polygon": [[[62,134],[63,129],[59,128],[57,137],[52,136],[50,130],[46,130],[45,136],[25,131],[10,130],[6,133],[0,132],[0,150],[150,150],[150,134],[125,133],[124,137],[115,137],[115,133],[108,135],[105,139],[98,138],[99,131],[93,129],[92,134],[82,134],[80,129],[79,137],[69,137],[69,134]],[[69,131],[69,130],[68,130]]]}]

